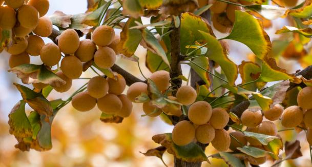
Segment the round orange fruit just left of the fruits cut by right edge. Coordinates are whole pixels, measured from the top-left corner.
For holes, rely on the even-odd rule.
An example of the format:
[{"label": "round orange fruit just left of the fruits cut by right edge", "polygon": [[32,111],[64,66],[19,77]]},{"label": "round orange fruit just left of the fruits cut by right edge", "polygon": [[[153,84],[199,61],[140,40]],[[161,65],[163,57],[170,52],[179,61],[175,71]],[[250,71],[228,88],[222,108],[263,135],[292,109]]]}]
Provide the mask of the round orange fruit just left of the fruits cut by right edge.
[{"label": "round orange fruit just left of the fruits cut by right edge", "polygon": [[282,126],[285,128],[294,128],[303,120],[303,111],[298,106],[286,108],[282,114]]}]

